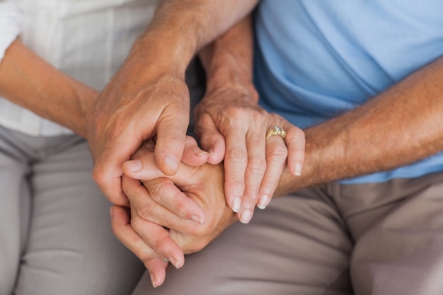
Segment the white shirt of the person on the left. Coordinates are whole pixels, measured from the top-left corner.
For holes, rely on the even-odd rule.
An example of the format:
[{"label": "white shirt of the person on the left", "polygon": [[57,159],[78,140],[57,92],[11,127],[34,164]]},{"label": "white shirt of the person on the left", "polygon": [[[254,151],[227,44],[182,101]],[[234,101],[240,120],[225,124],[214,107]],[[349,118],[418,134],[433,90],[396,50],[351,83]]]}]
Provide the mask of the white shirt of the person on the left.
[{"label": "white shirt of the person on the left", "polygon": [[[0,60],[16,39],[100,91],[154,14],[157,0],[0,0]],[[0,125],[35,136],[71,131],[0,97]]]}]

